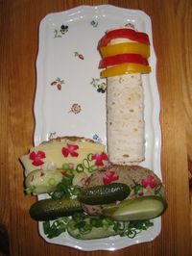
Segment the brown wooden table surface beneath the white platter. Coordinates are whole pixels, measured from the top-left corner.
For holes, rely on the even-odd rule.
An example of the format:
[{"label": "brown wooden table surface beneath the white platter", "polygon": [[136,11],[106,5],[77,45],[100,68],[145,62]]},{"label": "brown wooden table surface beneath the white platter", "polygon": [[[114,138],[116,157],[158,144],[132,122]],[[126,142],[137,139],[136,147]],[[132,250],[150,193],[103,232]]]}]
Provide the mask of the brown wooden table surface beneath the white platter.
[{"label": "brown wooden table surface beneath the white platter", "polygon": [[[140,9],[152,18],[161,100],[161,166],[169,207],[155,241],[114,252],[86,253],[45,243],[37,236],[36,222],[28,212],[36,198],[23,193],[23,169],[18,158],[33,145],[39,21],[47,13],[100,4]],[[187,154],[192,159],[191,27],[191,0],[0,1],[0,244],[4,251],[8,235],[10,253],[15,256],[191,255],[192,212],[187,171]]]}]

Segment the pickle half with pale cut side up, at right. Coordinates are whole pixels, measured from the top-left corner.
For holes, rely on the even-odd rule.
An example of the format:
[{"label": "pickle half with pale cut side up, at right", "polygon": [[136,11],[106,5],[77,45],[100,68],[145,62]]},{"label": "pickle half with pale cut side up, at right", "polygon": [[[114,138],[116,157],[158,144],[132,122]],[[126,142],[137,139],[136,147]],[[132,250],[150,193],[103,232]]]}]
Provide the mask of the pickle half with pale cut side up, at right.
[{"label": "pickle half with pale cut side up, at right", "polygon": [[164,198],[156,195],[124,200],[103,206],[103,214],[116,220],[142,220],[160,216],[167,207]]}]

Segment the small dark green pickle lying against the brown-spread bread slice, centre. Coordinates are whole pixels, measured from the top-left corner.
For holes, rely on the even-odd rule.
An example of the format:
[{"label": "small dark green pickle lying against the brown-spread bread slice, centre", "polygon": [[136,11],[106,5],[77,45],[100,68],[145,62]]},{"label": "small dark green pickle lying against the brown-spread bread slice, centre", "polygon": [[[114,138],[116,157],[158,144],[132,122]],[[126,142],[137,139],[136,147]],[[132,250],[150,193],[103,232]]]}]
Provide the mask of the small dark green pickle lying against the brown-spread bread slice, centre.
[{"label": "small dark green pickle lying against the brown-spread bread slice, centre", "polygon": [[108,204],[124,200],[130,192],[130,187],[126,184],[110,183],[84,189],[78,194],[78,199],[89,205]]}]

